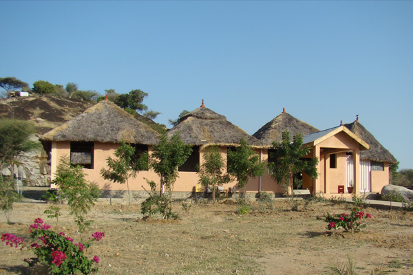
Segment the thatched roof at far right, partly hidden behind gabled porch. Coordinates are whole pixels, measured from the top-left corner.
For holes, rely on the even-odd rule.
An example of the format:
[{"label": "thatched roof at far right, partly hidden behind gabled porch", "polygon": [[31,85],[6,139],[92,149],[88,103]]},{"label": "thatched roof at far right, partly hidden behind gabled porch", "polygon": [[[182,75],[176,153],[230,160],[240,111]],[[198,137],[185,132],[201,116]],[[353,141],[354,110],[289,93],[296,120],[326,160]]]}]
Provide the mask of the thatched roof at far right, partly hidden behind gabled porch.
[{"label": "thatched roof at far right, partly hidden behind gabled porch", "polygon": [[344,124],[344,126],[370,145],[369,150],[360,152],[360,159],[371,159],[374,162],[397,162],[397,159],[393,157],[392,153],[384,148],[358,120]]}]

